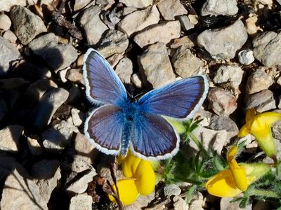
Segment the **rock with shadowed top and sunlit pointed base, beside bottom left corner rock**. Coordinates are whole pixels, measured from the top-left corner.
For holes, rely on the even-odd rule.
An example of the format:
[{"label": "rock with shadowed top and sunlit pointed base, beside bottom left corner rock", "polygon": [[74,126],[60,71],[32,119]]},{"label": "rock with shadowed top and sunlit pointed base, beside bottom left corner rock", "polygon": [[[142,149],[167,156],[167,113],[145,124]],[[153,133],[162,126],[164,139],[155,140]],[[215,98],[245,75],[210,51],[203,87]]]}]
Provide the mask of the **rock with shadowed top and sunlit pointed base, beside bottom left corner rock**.
[{"label": "rock with shadowed top and sunlit pointed base, beside bottom left corner rock", "polygon": [[60,180],[60,162],[58,160],[41,160],[32,166],[32,175],[34,181],[39,186],[39,192],[48,203],[53,189],[58,185]]}]

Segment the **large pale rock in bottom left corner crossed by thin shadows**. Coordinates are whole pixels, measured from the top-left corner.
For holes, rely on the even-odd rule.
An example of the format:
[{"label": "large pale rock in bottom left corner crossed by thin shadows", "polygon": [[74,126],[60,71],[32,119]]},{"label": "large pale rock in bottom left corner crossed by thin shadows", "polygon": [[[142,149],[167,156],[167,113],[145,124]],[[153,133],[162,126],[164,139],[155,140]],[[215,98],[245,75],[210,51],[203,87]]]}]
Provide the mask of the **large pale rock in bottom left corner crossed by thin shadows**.
[{"label": "large pale rock in bottom left corner crossed by thin shadows", "polygon": [[18,165],[8,175],[2,192],[1,209],[47,210],[47,204],[25,169]]}]

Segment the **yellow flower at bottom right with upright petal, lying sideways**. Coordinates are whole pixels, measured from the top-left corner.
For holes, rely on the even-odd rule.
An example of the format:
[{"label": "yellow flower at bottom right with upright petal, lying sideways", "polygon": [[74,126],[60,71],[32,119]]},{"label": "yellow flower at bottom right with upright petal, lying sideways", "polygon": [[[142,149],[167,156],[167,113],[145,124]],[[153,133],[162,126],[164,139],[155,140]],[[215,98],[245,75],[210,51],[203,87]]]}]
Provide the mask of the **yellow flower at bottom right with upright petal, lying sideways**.
[{"label": "yellow flower at bottom right with upright petal, lying sideways", "polygon": [[227,155],[229,169],[219,172],[205,184],[209,194],[218,197],[235,197],[269,171],[270,167],[263,163],[237,164],[236,153],[236,146],[230,148]]}]

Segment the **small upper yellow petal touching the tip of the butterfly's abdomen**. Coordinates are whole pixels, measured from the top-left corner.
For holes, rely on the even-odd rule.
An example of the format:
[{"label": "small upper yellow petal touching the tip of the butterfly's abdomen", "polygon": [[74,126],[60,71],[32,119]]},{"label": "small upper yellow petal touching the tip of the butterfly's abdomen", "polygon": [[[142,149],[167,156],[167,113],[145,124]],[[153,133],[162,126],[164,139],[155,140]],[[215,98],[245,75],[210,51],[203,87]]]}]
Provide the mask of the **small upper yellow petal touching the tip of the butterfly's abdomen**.
[{"label": "small upper yellow petal touching the tip of the butterfly's abdomen", "polygon": [[138,168],[141,158],[134,157],[131,153],[128,153],[126,159],[122,163],[122,171],[126,178],[136,178],[133,176]]}]

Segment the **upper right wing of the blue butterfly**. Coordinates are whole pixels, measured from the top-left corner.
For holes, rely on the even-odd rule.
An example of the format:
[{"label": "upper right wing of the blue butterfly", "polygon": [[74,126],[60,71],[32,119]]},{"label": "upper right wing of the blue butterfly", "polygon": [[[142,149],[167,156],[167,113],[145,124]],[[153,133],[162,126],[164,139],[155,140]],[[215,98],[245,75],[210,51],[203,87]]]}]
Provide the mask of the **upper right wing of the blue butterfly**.
[{"label": "upper right wing of the blue butterfly", "polygon": [[138,104],[146,113],[171,118],[192,118],[203,104],[209,89],[205,76],[193,76],[178,80],[141,97]]}]

